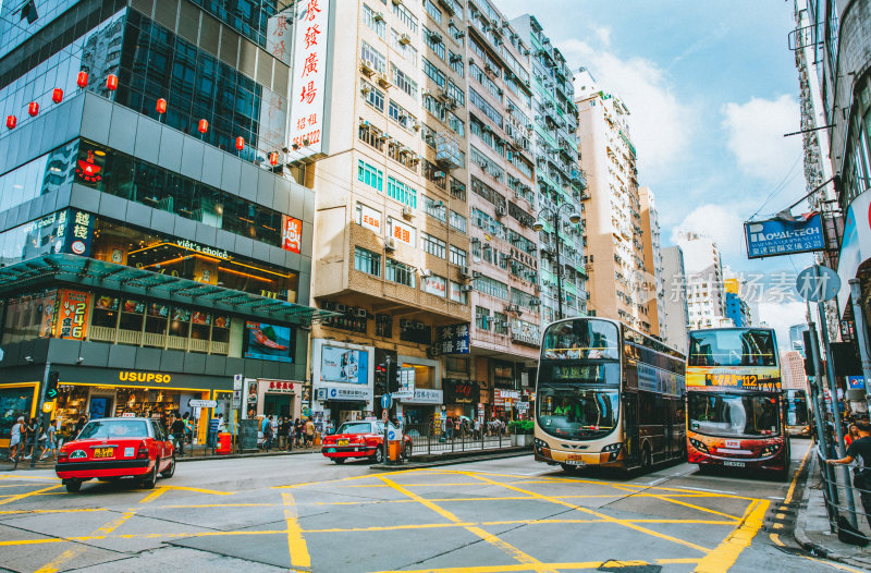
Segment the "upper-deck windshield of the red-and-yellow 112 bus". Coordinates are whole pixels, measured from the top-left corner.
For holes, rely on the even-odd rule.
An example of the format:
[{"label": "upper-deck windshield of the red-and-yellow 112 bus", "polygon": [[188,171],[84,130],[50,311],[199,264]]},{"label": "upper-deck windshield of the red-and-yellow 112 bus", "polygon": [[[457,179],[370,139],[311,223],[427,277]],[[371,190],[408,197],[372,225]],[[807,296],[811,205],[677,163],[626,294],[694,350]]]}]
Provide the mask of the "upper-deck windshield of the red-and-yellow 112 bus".
[{"label": "upper-deck windshield of the red-and-yellow 112 bus", "polygon": [[688,366],[777,366],[770,330],[697,330],[689,334]]}]

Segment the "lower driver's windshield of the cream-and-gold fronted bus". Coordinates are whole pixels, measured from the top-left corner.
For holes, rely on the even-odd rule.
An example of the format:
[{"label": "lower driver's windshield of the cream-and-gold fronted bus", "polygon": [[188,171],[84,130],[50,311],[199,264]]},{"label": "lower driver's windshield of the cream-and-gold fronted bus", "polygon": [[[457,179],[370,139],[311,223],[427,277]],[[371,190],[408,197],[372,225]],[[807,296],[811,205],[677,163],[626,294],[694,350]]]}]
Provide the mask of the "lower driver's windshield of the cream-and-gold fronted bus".
[{"label": "lower driver's windshield of the cream-and-gold fronted bus", "polygon": [[575,383],[539,382],[538,424],[548,434],[569,440],[611,434],[619,415],[619,392]]}]

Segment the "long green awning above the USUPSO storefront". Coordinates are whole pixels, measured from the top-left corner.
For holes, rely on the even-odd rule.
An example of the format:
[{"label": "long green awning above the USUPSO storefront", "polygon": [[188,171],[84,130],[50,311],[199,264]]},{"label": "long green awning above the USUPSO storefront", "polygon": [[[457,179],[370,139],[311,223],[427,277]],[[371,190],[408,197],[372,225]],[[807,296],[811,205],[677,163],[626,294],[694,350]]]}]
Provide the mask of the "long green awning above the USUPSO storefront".
[{"label": "long green awning above the USUPSO storefront", "polygon": [[304,326],[339,315],[217,284],[69,254],[44,255],[0,268],[0,296],[19,294],[22,290],[57,286],[58,283],[107,289]]}]

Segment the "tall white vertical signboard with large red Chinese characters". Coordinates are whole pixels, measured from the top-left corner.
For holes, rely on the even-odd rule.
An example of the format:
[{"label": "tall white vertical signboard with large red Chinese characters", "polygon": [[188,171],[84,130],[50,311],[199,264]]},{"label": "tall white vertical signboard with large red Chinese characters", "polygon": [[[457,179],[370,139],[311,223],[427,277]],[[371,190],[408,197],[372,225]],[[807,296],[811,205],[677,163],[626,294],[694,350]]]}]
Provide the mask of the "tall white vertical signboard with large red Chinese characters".
[{"label": "tall white vertical signboard with large red Chinese characters", "polygon": [[303,0],[297,7],[291,68],[290,139],[294,148],[292,157],[302,159],[324,151],[330,0]]}]

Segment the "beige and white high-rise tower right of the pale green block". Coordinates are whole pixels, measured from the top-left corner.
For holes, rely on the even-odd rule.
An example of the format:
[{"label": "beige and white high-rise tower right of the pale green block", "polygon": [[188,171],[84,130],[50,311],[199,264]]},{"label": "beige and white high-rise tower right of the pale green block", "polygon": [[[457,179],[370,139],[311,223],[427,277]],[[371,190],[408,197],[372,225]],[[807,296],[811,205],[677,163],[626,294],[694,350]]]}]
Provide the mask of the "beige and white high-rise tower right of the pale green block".
[{"label": "beige and white high-rise tower right of the pale green block", "polygon": [[575,100],[590,195],[582,212],[589,312],[651,332],[647,301],[636,296],[645,263],[629,109],[619,97],[601,90],[587,70],[575,78]]}]

